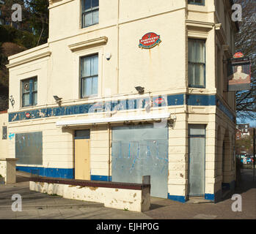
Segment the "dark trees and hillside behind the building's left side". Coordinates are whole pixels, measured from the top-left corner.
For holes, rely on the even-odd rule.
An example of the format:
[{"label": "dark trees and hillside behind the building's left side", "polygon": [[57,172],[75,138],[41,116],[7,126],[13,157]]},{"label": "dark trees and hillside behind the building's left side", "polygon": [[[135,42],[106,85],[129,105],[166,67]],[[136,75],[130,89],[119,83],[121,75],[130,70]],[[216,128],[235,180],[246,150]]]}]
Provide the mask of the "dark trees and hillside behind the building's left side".
[{"label": "dark trees and hillside behind the building's left side", "polygon": [[7,57],[48,40],[48,0],[5,0],[4,4],[0,4],[1,18],[10,25],[12,4],[21,4],[22,21],[15,23],[18,29],[0,26],[0,111],[7,110],[9,102],[9,73],[5,67]]}]

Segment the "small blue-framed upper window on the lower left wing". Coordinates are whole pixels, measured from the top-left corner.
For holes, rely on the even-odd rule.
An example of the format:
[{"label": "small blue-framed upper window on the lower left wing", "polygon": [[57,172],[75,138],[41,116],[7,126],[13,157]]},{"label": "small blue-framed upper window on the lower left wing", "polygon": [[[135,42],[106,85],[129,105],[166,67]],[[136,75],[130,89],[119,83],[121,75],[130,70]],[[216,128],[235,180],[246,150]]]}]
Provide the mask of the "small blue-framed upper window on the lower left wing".
[{"label": "small blue-framed upper window on the lower left wing", "polygon": [[37,78],[22,80],[22,107],[37,105]]}]

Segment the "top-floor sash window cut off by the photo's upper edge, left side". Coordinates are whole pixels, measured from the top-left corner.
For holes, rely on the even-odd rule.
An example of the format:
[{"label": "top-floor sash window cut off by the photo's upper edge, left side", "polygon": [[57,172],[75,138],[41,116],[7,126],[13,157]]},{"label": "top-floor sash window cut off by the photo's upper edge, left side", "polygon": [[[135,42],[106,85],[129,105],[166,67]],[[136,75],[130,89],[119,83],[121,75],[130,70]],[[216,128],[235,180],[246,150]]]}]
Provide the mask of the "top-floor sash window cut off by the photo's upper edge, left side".
[{"label": "top-floor sash window cut off by the photo's upper edge, left side", "polygon": [[99,23],[99,0],[82,0],[82,28]]}]

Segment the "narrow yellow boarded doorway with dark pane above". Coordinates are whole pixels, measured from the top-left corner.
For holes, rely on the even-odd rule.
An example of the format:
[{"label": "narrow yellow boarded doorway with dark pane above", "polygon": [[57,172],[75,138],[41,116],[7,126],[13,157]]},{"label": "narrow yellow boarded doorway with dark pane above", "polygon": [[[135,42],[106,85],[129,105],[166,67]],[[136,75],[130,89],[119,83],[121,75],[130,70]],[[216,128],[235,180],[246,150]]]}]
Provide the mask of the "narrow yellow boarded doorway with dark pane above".
[{"label": "narrow yellow boarded doorway with dark pane above", "polygon": [[77,130],[75,132],[75,178],[90,180],[90,131]]}]

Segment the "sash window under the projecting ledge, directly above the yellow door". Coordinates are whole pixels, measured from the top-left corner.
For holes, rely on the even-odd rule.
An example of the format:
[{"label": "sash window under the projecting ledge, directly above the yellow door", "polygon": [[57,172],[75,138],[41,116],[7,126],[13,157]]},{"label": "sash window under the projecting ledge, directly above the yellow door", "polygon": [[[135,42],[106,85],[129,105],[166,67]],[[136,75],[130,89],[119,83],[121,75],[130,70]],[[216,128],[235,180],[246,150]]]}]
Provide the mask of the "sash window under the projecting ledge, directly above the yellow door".
[{"label": "sash window under the projecting ledge, directly above the yellow door", "polygon": [[98,94],[98,54],[81,58],[81,97]]}]

